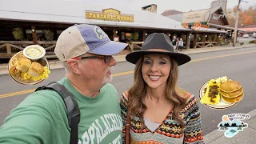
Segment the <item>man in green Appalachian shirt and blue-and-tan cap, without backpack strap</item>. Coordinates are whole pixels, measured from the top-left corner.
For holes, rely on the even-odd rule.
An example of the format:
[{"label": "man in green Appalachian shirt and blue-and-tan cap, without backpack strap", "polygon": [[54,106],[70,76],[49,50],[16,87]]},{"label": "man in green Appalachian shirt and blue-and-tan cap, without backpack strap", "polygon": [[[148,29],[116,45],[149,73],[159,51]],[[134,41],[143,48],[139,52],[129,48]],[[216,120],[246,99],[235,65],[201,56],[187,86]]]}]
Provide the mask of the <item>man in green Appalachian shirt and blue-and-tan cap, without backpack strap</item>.
[{"label": "man in green Appalachian shirt and blue-and-tan cap, without backpack strap", "polygon": [[[110,41],[98,26],[76,25],[58,37],[55,54],[66,70],[58,81],[74,95],[80,109],[78,143],[122,142],[118,94],[111,81],[111,56],[127,44]],[[54,90],[38,90],[12,110],[0,128],[0,143],[68,144],[66,106]]]}]

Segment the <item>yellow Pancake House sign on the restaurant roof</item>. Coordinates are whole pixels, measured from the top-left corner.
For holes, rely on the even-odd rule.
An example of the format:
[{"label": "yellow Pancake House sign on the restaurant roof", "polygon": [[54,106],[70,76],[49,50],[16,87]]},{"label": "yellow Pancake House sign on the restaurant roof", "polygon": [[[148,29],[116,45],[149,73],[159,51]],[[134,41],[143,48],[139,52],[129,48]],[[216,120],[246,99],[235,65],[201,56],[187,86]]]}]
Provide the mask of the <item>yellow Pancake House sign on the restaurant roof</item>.
[{"label": "yellow Pancake House sign on the restaurant roof", "polygon": [[102,12],[86,11],[86,19],[98,19],[115,22],[134,22],[134,15],[121,14],[120,11],[110,8],[102,10]]}]

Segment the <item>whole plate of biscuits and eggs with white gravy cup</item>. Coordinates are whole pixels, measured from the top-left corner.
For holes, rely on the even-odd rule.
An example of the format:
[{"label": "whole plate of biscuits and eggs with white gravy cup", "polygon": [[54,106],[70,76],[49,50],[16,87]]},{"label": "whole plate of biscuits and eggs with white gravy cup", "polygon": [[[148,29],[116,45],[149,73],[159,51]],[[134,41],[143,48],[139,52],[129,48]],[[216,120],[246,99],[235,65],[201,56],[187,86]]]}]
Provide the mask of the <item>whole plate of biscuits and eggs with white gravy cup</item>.
[{"label": "whole plate of biscuits and eggs with white gravy cup", "polygon": [[31,45],[14,54],[8,63],[9,74],[21,84],[37,84],[48,78],[49,62],[42,46]]}]

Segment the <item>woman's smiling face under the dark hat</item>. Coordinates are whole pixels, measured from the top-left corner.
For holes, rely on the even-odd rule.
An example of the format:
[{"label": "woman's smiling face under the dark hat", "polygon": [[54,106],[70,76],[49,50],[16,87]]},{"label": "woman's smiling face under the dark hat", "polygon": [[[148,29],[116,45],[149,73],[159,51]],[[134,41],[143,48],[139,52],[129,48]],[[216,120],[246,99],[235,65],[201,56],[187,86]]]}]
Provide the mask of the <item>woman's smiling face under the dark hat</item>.
[{"label": "woman's smiling face under the dark hat", "polygon": [[165,88],[170,74],[170,57],[165,54],[146,54],[142,63],[142,77],[152,89]]}]

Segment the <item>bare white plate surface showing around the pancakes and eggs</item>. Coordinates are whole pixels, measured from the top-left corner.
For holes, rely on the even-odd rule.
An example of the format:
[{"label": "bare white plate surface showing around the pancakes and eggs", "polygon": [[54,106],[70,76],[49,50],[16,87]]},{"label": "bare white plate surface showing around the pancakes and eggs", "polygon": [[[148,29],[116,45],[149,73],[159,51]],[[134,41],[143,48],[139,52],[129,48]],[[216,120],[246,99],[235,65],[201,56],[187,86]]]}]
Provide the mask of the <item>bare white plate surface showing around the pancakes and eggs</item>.
[{"label": "bare white plate surface showing around the pancakes and eggs", "polygon": [[[208,82],[204,83],[199,91],[199,98],[202,99],[202,97],[205,95],[204,94],[204,89],[208,86]],[[235,106],[236,104],[238,104],[238,102],[234,102],[234,103],[229,103],[229,102],[225,102],[223,99],[222,99],[222,96],[221,96],[221,100],[220,102],[218,102],[218,104],[216,105],[210,105],[210,104],[204,104],[205,106],[207,107],[210,107],[211,109],[218,109],[218,110],[221,110],[221,109],[227,109],[227,108],[230,108],[232,106]]]}]

